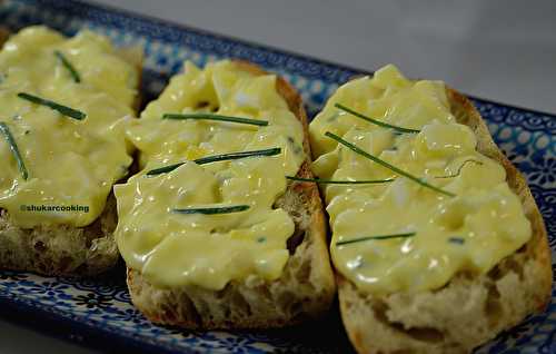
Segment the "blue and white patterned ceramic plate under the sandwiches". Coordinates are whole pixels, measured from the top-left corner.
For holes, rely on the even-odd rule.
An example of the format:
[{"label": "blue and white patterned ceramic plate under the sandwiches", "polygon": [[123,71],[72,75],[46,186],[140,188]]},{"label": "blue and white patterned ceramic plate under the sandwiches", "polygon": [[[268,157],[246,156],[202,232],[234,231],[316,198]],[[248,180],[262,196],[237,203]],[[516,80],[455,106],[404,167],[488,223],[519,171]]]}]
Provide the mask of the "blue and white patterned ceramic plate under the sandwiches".
[{"label": "blue and white patterned ceramic plate under the sandwiches", "polygon": [[[77,1],[8,0],[0,23],[16,31],[36,23],[67,35],[81,28],[108,35],[119,46],[146,49],[143,92],[156,97],[183,60],[202,66],[241,58],[274,70],[302,95],[314,116],[338,85],[361,73],[337,65],[247,43],[191,28]],[[498,146],[525,173],[556,249],[556,117],[474,99]],[[556,259],[556,257],[553,257]],[[554,266],[553,266],[554,268]],[[545,313],[527,318],[479,353],[556,353],[556,291]],[[232,353],[346,353],[351,348],[337,313],[317,324],[270,332],[182,332],[151,324],[132,307],[122,268],[100,279],[42,277],[0,272],[0,315],[39,331],[105,350]]]}]

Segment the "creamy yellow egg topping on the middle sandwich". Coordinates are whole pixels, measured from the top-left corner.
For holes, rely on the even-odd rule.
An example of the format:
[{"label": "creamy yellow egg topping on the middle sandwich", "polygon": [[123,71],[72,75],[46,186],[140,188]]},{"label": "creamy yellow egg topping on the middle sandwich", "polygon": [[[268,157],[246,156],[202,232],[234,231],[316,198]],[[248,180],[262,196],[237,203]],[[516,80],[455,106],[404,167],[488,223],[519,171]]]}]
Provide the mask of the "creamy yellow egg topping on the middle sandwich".
[{"label": "creamy yellow egg topping on the middle sandwich", "polygon": [[[215,112],[267,120],[266,127],[161,119],[165,114]],[[302,128],[276,90],[274,75],[254,76],[229,61],[203,70],[190,62],[127,130],[142,171],[115,186],[118,247],[131,268],[158,286],[220,289],[249,276],[276,279],[288,259],[295,225],[275,208],[304,157]],[[228,153],[281,148],[277,156],[197,165]],[[168,174],[161,166],[187,161]],[[175,208],[248,205],[232,214],[178,214]]]}]

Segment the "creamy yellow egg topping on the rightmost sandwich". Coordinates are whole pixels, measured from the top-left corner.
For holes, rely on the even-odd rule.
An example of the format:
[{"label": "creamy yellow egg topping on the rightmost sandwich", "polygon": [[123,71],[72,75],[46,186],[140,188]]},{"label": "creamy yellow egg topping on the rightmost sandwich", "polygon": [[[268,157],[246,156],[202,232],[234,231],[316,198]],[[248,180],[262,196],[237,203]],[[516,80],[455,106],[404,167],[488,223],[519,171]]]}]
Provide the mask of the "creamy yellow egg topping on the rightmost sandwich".
[{"label": "creamy yellow egg topping on the rightmost sandwich", "polygon": [[[335,108],[341,104],[390,125],[395,134]],[[325,136],[331,131],[365,151],[456,195],[397,176]],[[474,132],[450,114],[445,86],[409,81],[394,67],[353,80],[310,125],[320,178],[378,185],[325,185],[336,268],[369,293],[419,292],[445,285],[457,272],[486,273],[514,253],[532,230],[505,169],[476,150]],[[415,233],[413,237],[347,240]]]}]

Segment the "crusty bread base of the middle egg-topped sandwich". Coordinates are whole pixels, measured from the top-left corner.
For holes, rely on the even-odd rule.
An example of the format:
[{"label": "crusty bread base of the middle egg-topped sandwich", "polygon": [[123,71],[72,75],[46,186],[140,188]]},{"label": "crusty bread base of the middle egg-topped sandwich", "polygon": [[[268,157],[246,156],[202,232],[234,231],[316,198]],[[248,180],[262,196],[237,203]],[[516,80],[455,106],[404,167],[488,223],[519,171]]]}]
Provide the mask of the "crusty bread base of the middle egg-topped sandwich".
[{"label": "crusty bread base of the middle egg-topped sandwich", "polygon": [[[266,73],[248,62],[235,63],[238,70]],[[276,88],[302,124],[307,159],[297,176],[310,178],[308,122],[301,98],[281,78]],[[189,330],[280,327],[325,313],[336,286],[318,188],[311,184],[289,184],[276,206],[287,210],[296,225],[295,234],[288,239],[290,257],[277,281],[231,281],[221,291],[193,285],[159,288],[140,272],[128,269],[133,304],[152,322]]]}]

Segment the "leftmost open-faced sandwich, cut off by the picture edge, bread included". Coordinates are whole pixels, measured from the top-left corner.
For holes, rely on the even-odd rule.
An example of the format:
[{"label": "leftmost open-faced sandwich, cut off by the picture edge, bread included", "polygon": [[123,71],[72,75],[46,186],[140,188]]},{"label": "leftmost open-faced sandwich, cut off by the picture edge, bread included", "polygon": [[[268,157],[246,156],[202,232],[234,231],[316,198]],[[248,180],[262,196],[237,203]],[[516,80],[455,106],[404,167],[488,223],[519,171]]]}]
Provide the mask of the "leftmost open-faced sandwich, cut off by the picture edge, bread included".
[{"label": "leftmost open-faced sandwich, cut off by the picture edge, bread included", "polygon": [[112,185],[132,163],[140,50],[30,27],[0,52],[0,267],[91,275],[118,259]]}]

